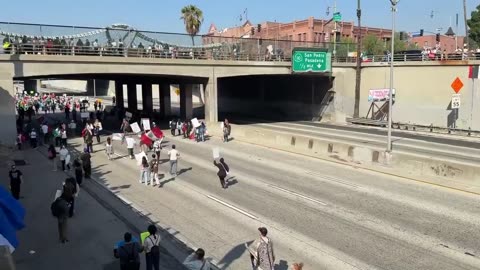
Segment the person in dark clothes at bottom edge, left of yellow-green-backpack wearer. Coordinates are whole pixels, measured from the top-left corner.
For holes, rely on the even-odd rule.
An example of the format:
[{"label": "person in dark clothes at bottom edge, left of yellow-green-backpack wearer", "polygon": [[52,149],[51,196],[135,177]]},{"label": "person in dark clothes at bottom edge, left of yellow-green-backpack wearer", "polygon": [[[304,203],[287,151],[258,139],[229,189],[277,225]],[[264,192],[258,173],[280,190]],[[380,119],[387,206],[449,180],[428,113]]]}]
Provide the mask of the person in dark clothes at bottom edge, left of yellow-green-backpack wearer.
[{"label": "person in dark clothes at bottom edge, left of yellow-green-backpack wearer", "polygon": [[123,245],[118,247],[116,253],[120,259],[120,270],[140,270],[140,256],[143,247],[136,241],[132,241],[132,234],[125,233],[123,236],[125,241]]}]

